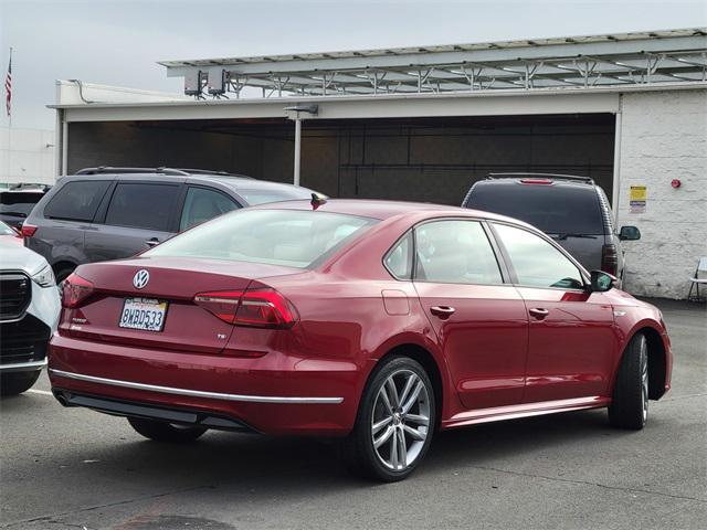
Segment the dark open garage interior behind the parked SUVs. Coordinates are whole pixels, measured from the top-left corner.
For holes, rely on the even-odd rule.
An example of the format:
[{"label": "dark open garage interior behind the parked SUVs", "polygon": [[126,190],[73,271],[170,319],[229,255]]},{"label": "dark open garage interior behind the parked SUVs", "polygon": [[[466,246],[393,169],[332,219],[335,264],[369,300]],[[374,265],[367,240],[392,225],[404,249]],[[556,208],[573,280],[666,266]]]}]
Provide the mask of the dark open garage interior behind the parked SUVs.
[{"label": "dark open garage interior behind the parked SUVs", "polygon": [[[294,126],[282,119],[72,123],[68,172],[93,166],[224,170],[281,182]],[[593,178],[611,200],[614,116],[577,114],[303,124],[302,184],[331,197],[460,204],[489,172]]]}]

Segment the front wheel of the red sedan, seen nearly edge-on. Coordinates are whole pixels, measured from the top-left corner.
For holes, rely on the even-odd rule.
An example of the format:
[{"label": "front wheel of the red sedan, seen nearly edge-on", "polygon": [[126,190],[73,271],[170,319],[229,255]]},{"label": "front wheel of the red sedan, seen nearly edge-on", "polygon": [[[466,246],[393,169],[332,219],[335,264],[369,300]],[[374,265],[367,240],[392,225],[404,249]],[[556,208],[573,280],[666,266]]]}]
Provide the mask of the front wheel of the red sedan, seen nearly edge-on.
[{"label": "front wheel of the red sedan, seen nearly edge-on", "polygon": [[640,431],[648,418],[648,344],[636,333],[626,346],[609,405],[609,423]]}]

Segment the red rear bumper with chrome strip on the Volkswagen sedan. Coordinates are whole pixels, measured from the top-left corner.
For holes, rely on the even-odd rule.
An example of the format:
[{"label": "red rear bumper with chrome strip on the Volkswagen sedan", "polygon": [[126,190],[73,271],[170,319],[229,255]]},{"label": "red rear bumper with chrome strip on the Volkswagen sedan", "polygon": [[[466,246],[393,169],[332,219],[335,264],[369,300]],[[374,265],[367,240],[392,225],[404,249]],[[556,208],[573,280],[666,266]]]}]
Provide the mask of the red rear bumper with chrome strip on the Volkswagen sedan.
[{"label": "red rear bumper with chrome strip on the Volkswagen sedan", "polygon": [[[59,335],[50,344],[49,375],[54,394],[68,406],[133,415],[129,407],[103,402],[129,403],[225,418],[264,434],[324,436],[352,428],[362,386],[361,371],[348,361],[279,351],[258,359],[161,351]],[[141,416],[160,418],[150,414]]]}]

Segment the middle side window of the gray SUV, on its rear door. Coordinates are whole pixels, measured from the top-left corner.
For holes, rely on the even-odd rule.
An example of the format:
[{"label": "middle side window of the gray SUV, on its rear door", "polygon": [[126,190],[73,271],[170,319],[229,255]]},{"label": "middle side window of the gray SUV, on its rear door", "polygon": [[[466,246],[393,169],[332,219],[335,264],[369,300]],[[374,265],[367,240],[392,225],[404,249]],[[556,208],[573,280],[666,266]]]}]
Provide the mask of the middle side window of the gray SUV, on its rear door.
[{"label": "middle side window of the gray SUV, on its rear door", "polygon": [[169,232],[179,186],[120,182],[106,212],[106,224]]}]

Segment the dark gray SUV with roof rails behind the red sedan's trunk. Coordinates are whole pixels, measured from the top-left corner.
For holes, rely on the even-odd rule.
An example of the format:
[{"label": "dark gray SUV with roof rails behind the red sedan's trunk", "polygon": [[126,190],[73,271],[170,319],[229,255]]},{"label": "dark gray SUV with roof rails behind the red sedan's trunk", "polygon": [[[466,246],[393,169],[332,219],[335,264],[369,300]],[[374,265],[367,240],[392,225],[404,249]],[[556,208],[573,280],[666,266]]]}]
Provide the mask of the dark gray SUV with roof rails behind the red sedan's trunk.
[{"label": "dark gray SUV with roof rails behind the red sedan's trunk", "polygon": [[83,263],[133,256],[236,208],[312,193],[204,170],[88,168],[61,178],[27,218],[22,234],[59,283]]}]

